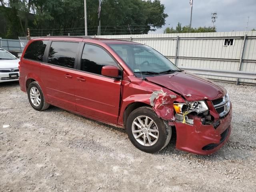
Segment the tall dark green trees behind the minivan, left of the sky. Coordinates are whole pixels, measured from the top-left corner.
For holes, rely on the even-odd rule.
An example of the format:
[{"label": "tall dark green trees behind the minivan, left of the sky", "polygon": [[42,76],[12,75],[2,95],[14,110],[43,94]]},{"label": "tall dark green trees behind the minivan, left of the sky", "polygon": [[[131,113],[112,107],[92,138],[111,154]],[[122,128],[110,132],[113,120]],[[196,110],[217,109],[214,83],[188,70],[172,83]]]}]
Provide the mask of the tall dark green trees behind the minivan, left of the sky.
[{"label": "tall dark green trees behind the minivan, left of the sky", "polygon": [[[98,32],[98,4],[86,0],[88,35]],[[31,36],[84,35],[84,0],[0,0],[0,5],[6,11],[5,37],[26,36],[27,28]],[[146,34],[168,16],[160,0],[102,0],[101,10],[102,35]]]}]

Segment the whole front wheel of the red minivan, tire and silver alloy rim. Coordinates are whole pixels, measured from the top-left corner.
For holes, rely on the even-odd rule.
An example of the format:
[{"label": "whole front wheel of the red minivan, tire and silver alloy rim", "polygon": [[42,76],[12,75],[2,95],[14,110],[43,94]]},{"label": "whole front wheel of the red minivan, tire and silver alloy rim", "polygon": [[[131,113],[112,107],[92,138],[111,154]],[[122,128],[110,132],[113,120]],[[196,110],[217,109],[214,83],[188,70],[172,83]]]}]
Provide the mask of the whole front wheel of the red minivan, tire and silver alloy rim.
[{"label": "whole front wheel of the red minivan, tire and silver alloy rim", "polygon": [[150,107],[132,111],[126,121],[126,131],[132,144],[147,153],[155,153],[167,146],[172,129]]}]

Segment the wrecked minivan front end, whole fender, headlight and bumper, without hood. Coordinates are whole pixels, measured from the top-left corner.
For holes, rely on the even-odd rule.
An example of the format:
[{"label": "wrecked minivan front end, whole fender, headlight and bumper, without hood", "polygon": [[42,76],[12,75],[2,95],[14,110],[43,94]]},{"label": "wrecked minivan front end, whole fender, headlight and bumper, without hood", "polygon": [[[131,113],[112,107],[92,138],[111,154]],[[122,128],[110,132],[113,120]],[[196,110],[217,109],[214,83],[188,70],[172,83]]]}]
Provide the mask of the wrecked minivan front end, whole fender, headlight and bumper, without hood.
[{"label": "wrecked minivan front end, whole fender, headlight and bumper, without hood", "polygon": [[[127,80],[127,81],[126,81]],[[176,129],[176,148],[195,154],[212,154],[223,146],[230,135],[232,105],[225,96],[226,91],[218,91],[212,96],[200,92],[187,93],[171,90],[149,80],[139,80],[134,76],[124,78],[121,106],[141,102],[152,106],[159,118]],[[212,99],[227,98],[224,103],[228,112],[225,116],[214,108]],[[121,107],[122,108],[122,107]],[[121,110],[125,111],[124,108]]]}]

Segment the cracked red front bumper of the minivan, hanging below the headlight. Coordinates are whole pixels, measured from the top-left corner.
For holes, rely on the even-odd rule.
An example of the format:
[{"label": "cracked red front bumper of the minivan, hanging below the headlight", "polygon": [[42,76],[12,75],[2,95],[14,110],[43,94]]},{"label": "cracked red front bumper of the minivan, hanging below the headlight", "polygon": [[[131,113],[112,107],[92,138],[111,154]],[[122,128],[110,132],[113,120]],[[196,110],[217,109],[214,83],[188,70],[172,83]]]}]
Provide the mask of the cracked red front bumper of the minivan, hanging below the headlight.
[{"label": "cracked red front bumper of the minivan, hanging below the headlight", "polygon": [[231,132],[232,106],[229,113],[220,118],[220,125],[203,125],[199,120],[194,125],[176,122],[176,148],[194,154],[208,155],[219,150]]}]

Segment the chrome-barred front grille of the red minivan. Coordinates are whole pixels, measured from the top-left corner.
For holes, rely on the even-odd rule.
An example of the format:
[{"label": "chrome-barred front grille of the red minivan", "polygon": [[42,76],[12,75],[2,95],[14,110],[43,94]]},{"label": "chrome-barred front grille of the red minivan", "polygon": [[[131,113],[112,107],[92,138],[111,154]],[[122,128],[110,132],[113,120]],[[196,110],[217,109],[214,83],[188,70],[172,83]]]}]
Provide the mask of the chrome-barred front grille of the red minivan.
[{"label": "chrome-barred front grille of the red minivan", "polygon": [[230,100],[228,94],[222,98],[212,100],[212,104],[214,105],[214,108],[220,117],[224,117],[230,110]]}]

